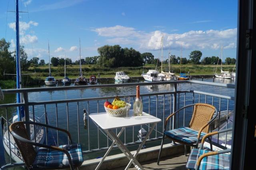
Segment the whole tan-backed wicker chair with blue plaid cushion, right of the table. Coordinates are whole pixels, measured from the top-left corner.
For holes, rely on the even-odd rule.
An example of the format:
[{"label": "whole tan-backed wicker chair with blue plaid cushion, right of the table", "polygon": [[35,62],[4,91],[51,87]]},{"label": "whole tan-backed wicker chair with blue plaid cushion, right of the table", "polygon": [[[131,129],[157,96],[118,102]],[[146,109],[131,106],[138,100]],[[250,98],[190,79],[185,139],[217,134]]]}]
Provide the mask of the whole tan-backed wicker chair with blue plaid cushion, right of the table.
[{"label": "whole tan-backed wicker chair with blue plaid cushion, right of the table", "polygon": [[[174,116],[176,113],[178,113],[182,109],[185,109],[187,107],[192,107],[192,106],[194,106],[194,111],[193,111],[193,115],[192,115],[192,119],[190,121],[189,127],[180,127],[173,130],[166,130],[166,125],[168,123],[168,120],[172,116]],[[216,113],[216,115],[213,117],[214,113]],[[196,103],[192,105],[186,105],[178,109],[176,112],[172,113],[170,116],[168,116],[164,124],[164,132],[163,132],[162,143],[161,143],[161,147],[158,155],[157,164],[159,165],[165,137],[170,138],[170,140],[173,140],[174,142],[184,144],[185,155],[186,155],[186,146],[187,145],[193,146],[195,148],[198,147],[198,143],[200,142],[200,140],[202,140],[203,136],[206,133],[208,133],[209,124],[212,121],[214,121],[214,119],[217,117],[218,115],[217,113],[218,113],[217,109],[212,105],[209,105],[206,103]],[[212,149],[212,144],[211,144],[211,149]]]}]

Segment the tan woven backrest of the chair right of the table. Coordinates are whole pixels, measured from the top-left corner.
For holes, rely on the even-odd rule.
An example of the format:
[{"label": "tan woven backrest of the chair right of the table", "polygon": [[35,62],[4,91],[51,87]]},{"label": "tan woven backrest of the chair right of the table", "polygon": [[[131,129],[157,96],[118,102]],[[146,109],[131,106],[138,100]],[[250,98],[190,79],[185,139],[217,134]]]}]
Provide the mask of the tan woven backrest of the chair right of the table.
[{"label": "tan woven backrest of the chair right of the table", "polygon": [[[206,103],[196,103],[189,127],[194,130],[200,130],[208,121],[212,119],[215,107]],[[217,114],[217,113],[216,113]],[[202,132],[208,133],[209,125]]]}]

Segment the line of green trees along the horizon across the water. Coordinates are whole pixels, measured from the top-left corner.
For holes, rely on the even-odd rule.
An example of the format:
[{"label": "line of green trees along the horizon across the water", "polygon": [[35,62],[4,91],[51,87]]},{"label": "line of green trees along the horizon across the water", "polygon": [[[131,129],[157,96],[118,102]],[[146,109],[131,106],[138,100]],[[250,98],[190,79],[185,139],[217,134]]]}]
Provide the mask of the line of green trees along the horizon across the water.
[{"label": "line of green trees along the horizon across the water", "polygon": [[[14,68],[16,67],[16,49],[14,51],[9,51],[10,42],[6,42],[4,38],[0,40],[0,79],[2,78],[2,73],[14,73]],[[154,64],[160,63],[158,58],[150,52],[140,53],[133,48],[122,48],[120,45],[104,45],[98,48],[98,56],[85,57],[81,59],[81,64],[95,64],[100,67],[137,67],[144,64]],[[202,52],[195,50],[191,51],[190,55],[186,57],[176,57],[176,55],[170,55],[171,64],[220,64],[221,59],[216,56],[204,57],[201,60]],[[28,67],[34,67],[38,65],[48,65],[44,59],[39,59],[38,57],[32,57],[28,60],[28,55],[24,50],[24,46],[20,46],[20,60],[22,70],[28,70]],[[40,61],[39,61],[40,60]],[[169,59],[166,59],[163,63],[167,64]],[[201,60],[201,61],[200,61]],[[53,66],[64,65],[64,58],[52,57],[51,64]],[[70,58],[66,58],[66,65],[79,65],[80,61],[72,61]],[[227,57],[225,59],[225,64],[235,64],[236,59]]]}]

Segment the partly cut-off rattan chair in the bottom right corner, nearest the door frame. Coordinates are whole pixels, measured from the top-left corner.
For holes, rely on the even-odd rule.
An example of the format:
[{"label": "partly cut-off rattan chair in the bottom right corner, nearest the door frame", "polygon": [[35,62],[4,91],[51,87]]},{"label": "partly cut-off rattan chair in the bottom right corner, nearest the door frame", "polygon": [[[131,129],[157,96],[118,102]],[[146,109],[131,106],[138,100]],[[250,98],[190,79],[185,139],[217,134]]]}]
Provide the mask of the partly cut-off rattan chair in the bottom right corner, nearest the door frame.
[{"label": "partly cut-off rattan chair in the bottom right corner, nearest the door frame", "polygon": [[232,128],[225,130],[210,132],[202,138],[201,148],[192,149],[190,155],[188,156],[188,162],[186,163],[186,168],[188,170],[229,170],[230,169],[230,154],[225,154],[230,152],[230,149],[217,150],[210,152],[209,150],[204,150],[203,145],[206,138],[214,134],[220,134],[224,132],[231,131]]}]

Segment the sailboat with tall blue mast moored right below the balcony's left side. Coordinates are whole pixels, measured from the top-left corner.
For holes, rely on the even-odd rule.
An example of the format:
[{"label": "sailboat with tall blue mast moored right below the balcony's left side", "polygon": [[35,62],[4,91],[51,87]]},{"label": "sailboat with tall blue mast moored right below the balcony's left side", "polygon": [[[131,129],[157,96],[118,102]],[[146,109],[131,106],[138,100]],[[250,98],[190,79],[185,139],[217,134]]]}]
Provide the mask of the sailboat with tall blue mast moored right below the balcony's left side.
[{"label": "sailboat with tall blue mast moored right below the balcony's left side", "polygon": [[[22,88],[22,74],[21,74],[21,64],[20,64],[20,38],[19,38],[19,9],[18,9],[18,0],[16,0],[16,86],[17,89]],[[20,93],[17,93],[16,97],[17,103],[23,103],[23,98]],[[12,120],[6,120],[4,126],[2,127],[3,130],[3,145],[6,152],[11,156],[11,158],[15,162],[23,162],[22,156],[19,152],[19,149],[12,137],[8,132],[8,128],[10,123],[14,123],[17,121],[24,121],[25,113],[24,113],[24,107],[17,107],[17,114],[12,118]],[[2,117],[3,118],[3,117]],[[29,113],[29,119],[30,121],[35,121],[37,123],[41,123],[41,119],[39,117],[34,116],[32,113]],[[44,128],[36,126],[34,128],[34,125],[30,125],[30,139],[34,141],[36,139],[36,142],[43,144],[45,139],[45,132]],[[4,155],[1,155],[4,156]],[[2,157],[1,157],[2,158]],[[8,166],[8,165],[6,165]]]}]

